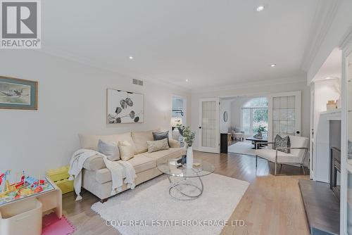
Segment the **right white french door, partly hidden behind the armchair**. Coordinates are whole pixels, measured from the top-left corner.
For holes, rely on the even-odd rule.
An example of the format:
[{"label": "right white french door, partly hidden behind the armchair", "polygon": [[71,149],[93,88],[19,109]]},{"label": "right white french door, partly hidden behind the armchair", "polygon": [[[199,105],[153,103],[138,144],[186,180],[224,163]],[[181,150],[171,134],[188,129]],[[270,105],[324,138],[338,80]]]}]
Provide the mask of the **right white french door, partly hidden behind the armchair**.
[{"label": "right white french door, partly hidden behind the armchair", "polygon": [[269,138],[275,136],[301,136],[301,91],[269,96]]}]

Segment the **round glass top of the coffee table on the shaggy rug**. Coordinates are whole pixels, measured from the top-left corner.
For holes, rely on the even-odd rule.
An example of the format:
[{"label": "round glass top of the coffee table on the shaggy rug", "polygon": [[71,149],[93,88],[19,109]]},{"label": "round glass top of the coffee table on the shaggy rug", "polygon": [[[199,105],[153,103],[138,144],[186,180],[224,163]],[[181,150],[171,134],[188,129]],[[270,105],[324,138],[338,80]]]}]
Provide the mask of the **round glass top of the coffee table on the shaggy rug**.
[{"label": "round glass top of the coffee table on the shaggy rug", "polygon": [[158,164],[158,170],[173,177],[202,177],[214,172],[215,167],[210,163],[194,159],[194,167],[188,169],[186,165],[174,165],[172,161]]}]

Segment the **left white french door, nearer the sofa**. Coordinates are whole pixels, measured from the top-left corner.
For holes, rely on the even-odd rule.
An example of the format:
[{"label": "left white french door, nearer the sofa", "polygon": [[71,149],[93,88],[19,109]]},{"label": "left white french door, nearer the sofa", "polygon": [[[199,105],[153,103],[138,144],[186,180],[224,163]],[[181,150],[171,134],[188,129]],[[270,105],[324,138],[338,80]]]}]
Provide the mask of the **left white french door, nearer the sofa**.
[{"label": "left white french door, nearer the sofa", "polygon": [[219,98],[199,100],[199,151],[220,153]]}]

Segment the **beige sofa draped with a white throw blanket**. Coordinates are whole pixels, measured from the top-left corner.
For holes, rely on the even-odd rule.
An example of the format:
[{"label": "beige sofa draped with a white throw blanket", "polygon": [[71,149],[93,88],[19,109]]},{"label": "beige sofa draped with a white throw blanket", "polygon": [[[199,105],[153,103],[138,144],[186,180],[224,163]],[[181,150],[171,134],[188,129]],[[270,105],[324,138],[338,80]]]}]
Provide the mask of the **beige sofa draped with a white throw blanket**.
[{"label": "beige sofa draped with a white throw blanket", "polygon": [[[153,140],[153,131],[147,132],[127,132],[124,134],[112,135],[92,135],[92,134],[79,134],[81,148],[89,148],[97,151],[99,139],[103,141],[129,141],[135,148],[135,155],[128,160],[136,171],[137,178],[136,185],[153,179],[160,174],[156,165],[158,163],[165,163],[169,158],[178,158],[186,154],[185,148],[180,148],[180,142],[169,139],[170,148],[163,151],[148,153],[146,141]],[[82,187],[87,189],[95,196],[101,199],[101,202],[106,201],[111,197],[111,173],[106,168],[102,158],[92,156],[88,158],[82,170]],[[127,190],[127,185],[122,186],[122,191]]]}]

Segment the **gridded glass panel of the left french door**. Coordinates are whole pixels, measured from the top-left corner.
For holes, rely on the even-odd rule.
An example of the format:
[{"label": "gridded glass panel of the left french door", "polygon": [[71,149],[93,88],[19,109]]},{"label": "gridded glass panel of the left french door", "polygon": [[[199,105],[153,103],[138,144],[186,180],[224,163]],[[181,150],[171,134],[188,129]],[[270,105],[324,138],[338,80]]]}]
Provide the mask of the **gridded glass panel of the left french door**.
[{"label": "gridded glass panel of the left french door", "polygon": [[215,148],[216,144],[216,101],[202,102],[201,121],[202,147]]}]

